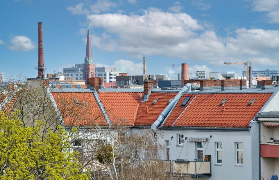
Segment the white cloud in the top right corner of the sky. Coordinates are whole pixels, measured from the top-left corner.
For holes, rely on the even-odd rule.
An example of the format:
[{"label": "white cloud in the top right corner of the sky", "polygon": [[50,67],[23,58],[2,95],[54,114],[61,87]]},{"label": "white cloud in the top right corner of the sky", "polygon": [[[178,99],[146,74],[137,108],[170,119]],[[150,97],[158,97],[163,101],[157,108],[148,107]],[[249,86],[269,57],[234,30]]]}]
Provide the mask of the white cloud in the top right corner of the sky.
[{"label": "white cloud in the top right corner of the sky", "polygon": [[279,23],[278,0],[252,0],[253,11],[266,12],[270,23]]}]

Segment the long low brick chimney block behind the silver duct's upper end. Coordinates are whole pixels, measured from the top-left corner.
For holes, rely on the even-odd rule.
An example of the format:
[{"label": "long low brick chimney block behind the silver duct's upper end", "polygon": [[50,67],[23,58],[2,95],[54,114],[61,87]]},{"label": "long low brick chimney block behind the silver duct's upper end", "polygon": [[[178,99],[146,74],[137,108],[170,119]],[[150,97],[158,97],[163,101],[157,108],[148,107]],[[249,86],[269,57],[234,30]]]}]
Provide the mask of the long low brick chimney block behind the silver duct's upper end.
[{"label": "long low brick chimney block behind the silver duct's upper end", "polygon": [[185,80],[184,85],[187,83],[199,83],[200,91],[220,91],[220,80]]}]

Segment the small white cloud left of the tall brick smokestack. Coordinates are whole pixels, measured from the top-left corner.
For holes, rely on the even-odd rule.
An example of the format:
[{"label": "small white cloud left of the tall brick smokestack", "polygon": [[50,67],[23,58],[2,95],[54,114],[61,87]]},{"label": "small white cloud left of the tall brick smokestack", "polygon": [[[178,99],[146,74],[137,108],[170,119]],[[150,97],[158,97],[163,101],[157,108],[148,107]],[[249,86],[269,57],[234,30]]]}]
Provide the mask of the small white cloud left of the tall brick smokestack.
[{"label": "small white cloud left of the tall brick smokestack", "polygon": [[34,42],[27,36],[12,36],[9,49],[13,51],[30,51],[35,49]]}]

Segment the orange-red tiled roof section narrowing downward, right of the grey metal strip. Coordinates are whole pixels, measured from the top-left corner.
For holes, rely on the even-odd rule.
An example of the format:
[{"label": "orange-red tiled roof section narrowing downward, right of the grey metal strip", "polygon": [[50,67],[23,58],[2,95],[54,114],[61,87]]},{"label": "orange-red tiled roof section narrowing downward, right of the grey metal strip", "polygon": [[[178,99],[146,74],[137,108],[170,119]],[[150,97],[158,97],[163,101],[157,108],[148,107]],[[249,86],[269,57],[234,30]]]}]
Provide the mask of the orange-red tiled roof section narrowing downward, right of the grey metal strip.
[{"label": "orange-red tiled roof section narrowing downward, right of the grey metal strip", "polygon": [[131,126],[134,124],[137,108],[142,100],[138,92],[99,92],[112,124]]}]

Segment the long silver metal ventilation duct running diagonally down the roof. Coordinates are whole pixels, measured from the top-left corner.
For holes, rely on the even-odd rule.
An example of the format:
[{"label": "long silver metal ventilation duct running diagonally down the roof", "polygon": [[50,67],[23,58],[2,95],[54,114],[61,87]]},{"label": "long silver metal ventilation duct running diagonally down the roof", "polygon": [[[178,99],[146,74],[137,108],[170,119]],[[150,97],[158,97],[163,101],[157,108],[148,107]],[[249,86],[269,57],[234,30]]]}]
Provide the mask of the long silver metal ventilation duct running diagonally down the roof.
[{"label": "long silver metal ventilation duct running diagonally down the roof", "polygon": [[172,107],[176,104],[176,102],[179,100],[183,92],[191,91],[192,89],[199,89],[200,85],[197,83],[187,83],[184,85],[184,87],[177,93],[177,95],[174,97],[174,99],[167,105],[167,107],[164,109],[164,111],[159,115],[158,119],[151,125],[151,129],[155,130],[158,128],[162,122],[164,121],[165,117],[169,114]]}]

